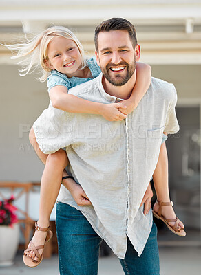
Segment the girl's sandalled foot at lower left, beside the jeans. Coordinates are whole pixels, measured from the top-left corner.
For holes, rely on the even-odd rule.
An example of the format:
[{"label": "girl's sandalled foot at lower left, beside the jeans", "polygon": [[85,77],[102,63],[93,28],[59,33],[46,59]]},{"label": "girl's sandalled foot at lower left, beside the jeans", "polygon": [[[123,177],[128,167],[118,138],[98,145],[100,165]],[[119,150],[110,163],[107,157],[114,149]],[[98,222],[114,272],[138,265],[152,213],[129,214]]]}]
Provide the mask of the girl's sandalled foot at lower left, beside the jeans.
[{"label": "girl's sandalled foot at lower left, beside the jeans", "polygon": [[36,231],[32,240],[30,241],[28,248],[24,251],[23,261],[28,267],[36,267],[41,263],[43,259],[43,250],[47,241],[52,238],[52,231],[50,226],[47,228],[41,228],[35,223]]}]

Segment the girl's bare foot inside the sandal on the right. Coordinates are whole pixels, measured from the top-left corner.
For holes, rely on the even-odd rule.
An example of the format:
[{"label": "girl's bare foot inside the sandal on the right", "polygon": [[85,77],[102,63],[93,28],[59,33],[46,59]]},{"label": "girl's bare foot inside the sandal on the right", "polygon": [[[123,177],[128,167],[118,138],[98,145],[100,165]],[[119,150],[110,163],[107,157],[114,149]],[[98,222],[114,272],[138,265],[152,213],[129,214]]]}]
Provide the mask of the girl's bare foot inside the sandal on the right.
[{"label": "girl's bare foot inside the sandal on the right", "polygon": [[[162,216],[162,217],[164,217],[165,219],[177,219],[177,217],[176,217],[176,214],[175,214],[175,212],[174,212],[174,210],[173,210],[173,203],[172,203],[172,205],[171,205],[171,203],[170,203],[170,205],[169,206],[160,206],[159,205],[159,201],[156,201],[155,203],[154,203],[154,208],[153,208],[153,210],[154,210],[154,212],[156,212],[156,214],[158,214],[159,216]],[[159,213],[158,211],[159,211],[159,208],[161,208],[161,213]],[[171,227],[173,227],[174,225],[175,225],[175,221],[169,221],[168,222],[168,224],[171,226]],[[182,221],[179,221],[179,223],[178,223],[178,226],[181,228],[181,229],[184,229],[184,224],[182,223]]]}]

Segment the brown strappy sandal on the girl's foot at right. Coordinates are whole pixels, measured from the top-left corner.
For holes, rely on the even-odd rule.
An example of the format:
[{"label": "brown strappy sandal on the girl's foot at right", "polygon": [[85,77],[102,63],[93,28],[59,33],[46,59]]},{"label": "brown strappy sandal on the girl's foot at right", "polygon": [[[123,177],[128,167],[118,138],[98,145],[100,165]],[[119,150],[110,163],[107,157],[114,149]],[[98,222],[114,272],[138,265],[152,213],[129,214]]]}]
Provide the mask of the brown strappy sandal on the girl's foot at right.
[{"label": "brown strappy sandal on the girl's foot at right", "polygon": [[[163,221],[167,225],[167,228],[169,228],[169,230],[171,230],[174,234],[178,236],[186,236],[186,232],[182,228],[180,228],[180,226],[178,225],[180,223],[180,220],[178,219],[178,217],[176,217],[176,219],[165,219],[165,217],[162,216],[162,207],[173,206],[173,202],[157,201],[157,203],[159,205],[159,209],[158,209],[158,213],[152,210],[154,216],[157,219],[161,219],[161,221]],[[171,223],[171,222],[174,222],[175,224],[173,226],[169,225],[168,223]]]}]

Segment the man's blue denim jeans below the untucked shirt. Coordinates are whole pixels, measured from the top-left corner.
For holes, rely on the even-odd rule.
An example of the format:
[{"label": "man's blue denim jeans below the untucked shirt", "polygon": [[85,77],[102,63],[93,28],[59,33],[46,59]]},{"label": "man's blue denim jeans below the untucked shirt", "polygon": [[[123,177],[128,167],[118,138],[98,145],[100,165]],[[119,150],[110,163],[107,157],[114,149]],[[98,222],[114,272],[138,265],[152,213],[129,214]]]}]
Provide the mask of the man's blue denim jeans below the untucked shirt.
[{"label": "man's blue denim jeans below the untucked shirt", "polygon": [[[56,204],[56,233],[61,275],[96,275],[100,243],[103,241],[83,214],[65,203]],[[127,238],[125,259],[120,259],[127,275],[159,275],[157,229],[153,223],[142,255]]]}]

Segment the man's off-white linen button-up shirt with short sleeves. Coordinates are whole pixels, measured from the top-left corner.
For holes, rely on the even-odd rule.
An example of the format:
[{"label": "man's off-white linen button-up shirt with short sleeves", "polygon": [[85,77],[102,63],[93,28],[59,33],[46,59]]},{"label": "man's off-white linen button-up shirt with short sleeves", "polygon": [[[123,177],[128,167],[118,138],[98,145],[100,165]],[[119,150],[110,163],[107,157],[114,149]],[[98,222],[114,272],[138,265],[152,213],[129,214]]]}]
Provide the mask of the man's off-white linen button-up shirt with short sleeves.
[{"label": "man's off-white linen button-up shirt with short sleeves", "polygon": [[[100,74],[69,93],[106,104],[122,100],[105,92],[102,78]],[[152,213],[145,216],[139,207],[158,162],[162,133],[179,130],[176,100],[172,84],[152,78],[138,107],[123,121],[50,107],[34,123],[43,153],[67,147],[70,171],[92,206],[77,206],[64,186],[58,200],[80,210],[120,259],[127,236],[139,256],[149,237]]]}]

